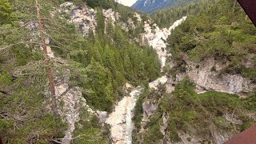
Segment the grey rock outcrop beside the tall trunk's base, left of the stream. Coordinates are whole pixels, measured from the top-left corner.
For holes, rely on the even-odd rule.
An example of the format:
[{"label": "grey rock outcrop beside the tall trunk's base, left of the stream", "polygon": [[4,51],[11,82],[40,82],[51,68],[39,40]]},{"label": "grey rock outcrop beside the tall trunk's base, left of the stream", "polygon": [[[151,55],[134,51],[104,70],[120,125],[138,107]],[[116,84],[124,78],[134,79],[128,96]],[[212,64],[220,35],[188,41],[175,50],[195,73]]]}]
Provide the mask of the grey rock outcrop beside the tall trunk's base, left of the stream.
[{"label": "grey rock outcrop beside the tall trunk's base, left of the stream", "polygon": [[67,123],[67,130],[62,139],[63,144],[70,144],[75,130],[75,123],[80,120],[81,110],[87,110],[91,115],[96,115],[100,122],[105,122],[107,113],[94,111],[86,104],[82,91],[78,86],[69,86],[70,70],[63,70],[60,77],[55,78],[55,94],[58,102],[58,114]]}]

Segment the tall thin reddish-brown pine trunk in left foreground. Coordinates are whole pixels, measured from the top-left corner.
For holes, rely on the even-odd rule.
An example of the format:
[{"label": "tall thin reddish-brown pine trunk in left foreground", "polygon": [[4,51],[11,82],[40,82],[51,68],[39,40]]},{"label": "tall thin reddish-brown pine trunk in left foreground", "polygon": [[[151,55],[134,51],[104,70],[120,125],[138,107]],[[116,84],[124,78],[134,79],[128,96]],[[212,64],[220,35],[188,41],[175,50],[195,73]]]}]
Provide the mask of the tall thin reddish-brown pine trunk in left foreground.
[{"label": "tall thin reddish-brown pine trunk in left foreground", "polygon": [[39,24],[39,30],[40,30],[40,38],[41,38],[41,42],[42,42],[42,49],[43,49],[43,53],[44,53],[44,58],[45,58],[45,66],[46,66],[46,72],[48,75],[48,80],[50,83],[50,96],[51,96],[51,102],[52,102],[52,110],[54,112],[54,116],[58,117],[58,107],[57,107],[57,101],[56,101],[56,97],[55,97],[55,88],[54,88],[54,78],[53,78],[53,74],[51,72],[51,68],[50,68],[50,58],[47,55],[47,48],[46,48],[46,30],[43,26],[42,23],[42,18],[41,18],[41,14],[40,14],[40,7],[38,4],[38,0],[35,0],[36,3],[36,7],[37,7],[37,12],[38,12],[38,24]]}]

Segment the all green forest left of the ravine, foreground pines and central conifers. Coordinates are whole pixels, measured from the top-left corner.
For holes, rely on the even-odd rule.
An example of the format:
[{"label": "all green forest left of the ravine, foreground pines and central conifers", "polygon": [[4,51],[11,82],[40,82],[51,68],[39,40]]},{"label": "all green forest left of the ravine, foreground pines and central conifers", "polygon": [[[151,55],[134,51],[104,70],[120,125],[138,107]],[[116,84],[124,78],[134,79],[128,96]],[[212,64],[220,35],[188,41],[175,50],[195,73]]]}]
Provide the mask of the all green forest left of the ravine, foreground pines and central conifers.
[{"label": "all green forest left of the ravine, foreground pines and central conifers", "polygon": [[[0,2],[1,7],[3,3]],[[0,26],[0,48],[7,47],[0,50],[0,87],[11,94],[0,94],[0,133],[6,143],[50,143],[52,139],[63,138],[66,123],[50,114],[50,98],[45,94],[48,82],[38,45],[40,38],[34,23],[30,23],[37,19],[36,11],[31,9],[34,0],[10,2],[10,7],[15,8],[10,22],[1,22]],[[69,14],[50,14],[61,2],[65,1],[39,1],[50,47],[55,58],[65,60],[63,65],[50,62],[54,78],[61,78],[63,70],[69,69],[70,88],[79,86],[91,107],[110,111],[114,102],[122,98],[125,82],[137,86],[159,76],[160,63],[156,52],[151,47],[130,41],[131,34],[138,33],[129,34],[122,30],[119,21],[114,25],[108,22],[105,33],[102,7],[118,11],[122,15],[120,21],[125,21],[128,15],[134,18],[134,10],[112,0],[90,1],[91,7],[98,7],[98,25],[95,35],[90,30],[90,38],[84,38],[78,33],[79,27],[67,21]],[[80,0],[73,2],[82,5]],[[88,118],[88,115],[81,115],[82,120],[74,132],[74,137],[80,135],[81,138],[76,138],[74,143],[109,142],[109,128],[99,126],[98,119]]]}]

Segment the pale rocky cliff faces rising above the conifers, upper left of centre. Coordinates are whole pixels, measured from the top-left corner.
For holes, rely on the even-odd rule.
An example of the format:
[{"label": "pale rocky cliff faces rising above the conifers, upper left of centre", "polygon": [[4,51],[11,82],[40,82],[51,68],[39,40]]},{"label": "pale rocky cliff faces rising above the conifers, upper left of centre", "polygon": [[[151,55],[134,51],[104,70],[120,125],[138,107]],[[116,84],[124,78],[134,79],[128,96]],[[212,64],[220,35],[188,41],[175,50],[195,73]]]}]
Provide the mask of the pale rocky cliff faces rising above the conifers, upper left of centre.
[{"label": "pale rocky cliff faces rising above the conifers, upper left of centre", "polygon": [[[69,22],[78,26],[78,29],[84,37],[88,36],[90,30],[95,34],[97,27],[96,10],[89,9],[87,6],[76,6],[72,2],[65,2],[60,6],[58,11],[70,14]],[[111,22],[112,25],[115,26],[120,19],[120,14],[112,9],[102,10],[102,13],[105,18],[105,24]],[[134,13],[134,18],[137,18],[138,23],[142,22],[140,14]],[[120,25],[122,26],[122,29],[126,31],[130,29],[133,30],[136,27],[131,18],[128,18],[127,22],[121,22]]]}]

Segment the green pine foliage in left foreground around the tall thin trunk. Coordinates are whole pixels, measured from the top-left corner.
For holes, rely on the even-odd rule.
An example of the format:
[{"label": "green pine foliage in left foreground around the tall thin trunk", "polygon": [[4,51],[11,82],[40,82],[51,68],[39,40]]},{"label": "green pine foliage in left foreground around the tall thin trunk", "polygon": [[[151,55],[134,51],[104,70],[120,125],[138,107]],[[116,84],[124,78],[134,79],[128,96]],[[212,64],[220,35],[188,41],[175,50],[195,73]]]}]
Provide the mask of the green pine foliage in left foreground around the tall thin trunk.
[{"label": "green pine foliage in left foreground around the tall thin trunk", "polygon": [[[30,26],[30,21],[37,19],[36,11],[31,9],[34,7],[34,0],[11,0],[10,2],[12,7],[15,7],[10,24],[0,23],[0,89],[6,90],[10,94],[0,93],[1,137],[5,143],[51,143],[53,139],[64,137],[66,122],[60,118],[54,118],[50,113],[50,98],[46,94],[48,82],[42,62],[42,50],[36,44],[39,39],[38,30]],[[39,2],[42,7],[42,18],[47,19],[45,24],[49,29],[47,37],[50,37],[50,46],[54,55],[62,57],[71,64],[77,64],[77,70],[70,69],[74,76],[70,78],[70,87],[78,86],[77,84],[82,88],[85,87],[89,80],[86,77],[86,67],[94,56],[93,54],[90,56],[88,52],[89,48],[94,46],[93,42],[87,41],[81,34],[78,34],[76,27],[66,21],[65,18],[69,17],[66,17],[65,13],[56,13],[54,16],[50,14],[50,11],[54,10],[54,6],[59,6],[58,2],[60,1]],[[2,10],[2,4],[0,1],[0,10]],[[25,26],[21,26],[21,22]],[[70,63],[66,66],[70,66]],[[61,78],[64,74],[63,70],[70,68],[67,67],[54,62],[54,65],[51,65],[54,77]],[[106,72],[105,68],[103,69],[104,71],[100,71],[99,75]],[[78,72],[78,74],[74,74],[74,72]],[[18,78],[12,78],[12,75]],[[81,75],[81,81],[74,82]],[[110,87],[110,85],[108,86]],[[107,96],[110,96],[112,92],[109,87],[106,87]],[[83,94],[85,94],[84,91]],[[106,103],[106,105],[111,104]],[[98,139],[102,138],[104,139],[102,142],[107,142],[107,138],[104,138],[106,133],[102,132],[102,127],[93,125],[90,126],[90,129],[97,132],[94,134],[102,134]],[[90,129],[83,132],[90,133]],[[91,139],[83,137],[83,140],[89,142]]]}]

